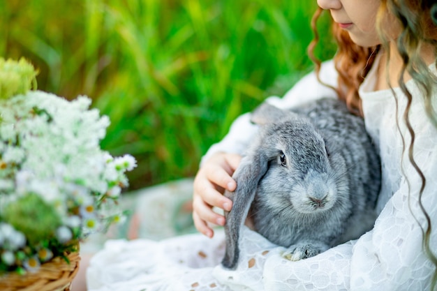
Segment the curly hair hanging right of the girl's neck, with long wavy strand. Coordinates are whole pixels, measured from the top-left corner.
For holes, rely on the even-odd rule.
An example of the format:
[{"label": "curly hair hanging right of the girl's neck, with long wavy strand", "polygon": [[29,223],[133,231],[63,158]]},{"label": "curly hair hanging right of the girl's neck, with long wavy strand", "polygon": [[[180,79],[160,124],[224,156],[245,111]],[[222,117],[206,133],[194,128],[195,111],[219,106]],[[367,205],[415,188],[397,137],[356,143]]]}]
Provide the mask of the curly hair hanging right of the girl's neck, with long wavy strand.
[{"label": "curly hair hanging right of the girl's neck, with long wavy strand", "polygon": [[[404,75],[407,73],[421,87],[422,91],[424,91],[424,103],[427,116],[429,117],[429,121],[437,128],[437,112],[433,107],[431,100],[432,91],[437,88],[437,77],[431,73],[429,67],[420,56],[420,50],[424,44],[429,44],[431,47],[434,47],[434,56],[436,56],[437,27],[431,19],[431,7],[433,5],[436,6],[437,4],[432,0],[381,0],[377,17],[377,29],[385,50],[388,50],[388,41],[385,38],[385,33],[380,25],[383,19],[382,15],[388,11],[396,16],[401,24],[401,33],[397,39],[397,50],[403,59],[403,67],[401,75],[399,76],[399,85],[403,94],[407,98],[406,109],[403,112],[403,121],[405,122],[408,128],[408,134],[411,137],[409,144],[405,144],[405,140],[403,139],[403,152],[408,151],[408,160],[422,180],[419,192],[419,207],[427,221],[426,227],[420,225],[423,234],[422,242],[424,252],[436,267],[431,281],[431,290],[437,288],[437,257],[436,254],[433,253],[430,245],[432,231],[431,218],[429,218],[429,215],[422,204],[422,194],[427,184],[427,179],[424,177],[422,170],[420,170],[420,167],[417,165],[413,157],[415,132],[411,126],[408,114],[413,102],[413,96],[410,94],[410,91],[403,80]],[[434,61],[434,66],[437,66],[437,60]]]}]

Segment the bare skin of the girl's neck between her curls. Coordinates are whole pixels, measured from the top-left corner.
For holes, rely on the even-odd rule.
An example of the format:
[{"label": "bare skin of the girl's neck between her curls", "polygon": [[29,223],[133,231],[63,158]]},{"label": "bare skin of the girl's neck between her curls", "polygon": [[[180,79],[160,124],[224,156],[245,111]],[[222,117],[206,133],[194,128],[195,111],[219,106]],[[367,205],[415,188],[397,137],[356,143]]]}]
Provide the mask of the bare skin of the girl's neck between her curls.
[{"label": "bare skin of the girl's neck between her curls", "polygon": [[[396,42],[390,41],[390,60],[387,64],[388,54],[385,50],[380,50],[380,62],[378,65],[378,73],[375,90],[389,89],[399,87],[399,76],[401,75],[403,61],[399,54]],[[423,45],[421,49],[421,56],[425,64],[431,65],[436,61],[436,53],[432,45]],[[388,74],[387,74],[388,72]],[[411,79],[407,72],[403,76],[403,82],[408,82]]]}]

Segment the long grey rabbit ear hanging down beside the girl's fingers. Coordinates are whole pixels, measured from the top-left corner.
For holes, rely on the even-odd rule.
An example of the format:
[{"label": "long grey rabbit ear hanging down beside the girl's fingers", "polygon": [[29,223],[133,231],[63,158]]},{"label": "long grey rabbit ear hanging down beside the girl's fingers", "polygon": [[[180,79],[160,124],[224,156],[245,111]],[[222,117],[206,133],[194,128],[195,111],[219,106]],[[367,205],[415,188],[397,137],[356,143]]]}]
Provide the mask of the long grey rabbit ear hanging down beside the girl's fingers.
[{"label": "long grey rabbit ear hanging down beside the girl's fingers", "polygon": [[237,182],[234,192],[225,192],[225,196],[232,200],[230,212],[225,211],[226,250],[223,257],[223,267],[235,269],[239,257],[239,232],[244,224],[249,209],[255,197],[258,182],[265,175],[268,168],[268,156],[258,148],[251,155],[242,159],[233,178]]}]

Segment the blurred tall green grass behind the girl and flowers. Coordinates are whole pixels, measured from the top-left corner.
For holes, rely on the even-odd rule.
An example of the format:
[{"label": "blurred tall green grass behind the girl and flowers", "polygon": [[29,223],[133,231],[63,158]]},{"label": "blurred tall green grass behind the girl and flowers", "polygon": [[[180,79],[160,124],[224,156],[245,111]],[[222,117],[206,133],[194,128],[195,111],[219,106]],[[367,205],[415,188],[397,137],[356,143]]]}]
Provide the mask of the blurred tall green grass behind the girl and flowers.
[{"label": "blurred tall green grass behind the girl and flowers", "polygon": [[[239,114],[308,73],[315,10],[315,0],[6,0],[0,56],[31,61],[38,89],[93,99],[111,120],[103,149],[138,160],[133,190],[193,177]],[[320,59],[334,54],[327,17]]]}]

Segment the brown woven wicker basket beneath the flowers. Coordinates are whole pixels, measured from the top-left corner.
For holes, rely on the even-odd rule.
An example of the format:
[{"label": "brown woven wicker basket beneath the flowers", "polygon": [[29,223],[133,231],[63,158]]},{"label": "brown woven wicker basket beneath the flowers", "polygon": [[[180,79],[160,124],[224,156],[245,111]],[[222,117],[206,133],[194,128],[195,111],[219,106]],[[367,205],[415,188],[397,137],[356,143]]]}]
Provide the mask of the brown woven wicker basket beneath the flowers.
[{"label": "brown woven wicker basket beneath the flowers", "polygon": [[24,275],[6,274],[0,276],[1,291],[70,291],[71,281],[79,270],[79,253],[67,255],[70,264],[64,258],[54,258],[50,262],[41,264],[35,273]]}]

